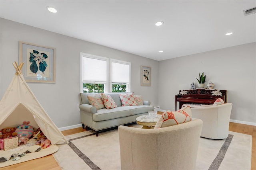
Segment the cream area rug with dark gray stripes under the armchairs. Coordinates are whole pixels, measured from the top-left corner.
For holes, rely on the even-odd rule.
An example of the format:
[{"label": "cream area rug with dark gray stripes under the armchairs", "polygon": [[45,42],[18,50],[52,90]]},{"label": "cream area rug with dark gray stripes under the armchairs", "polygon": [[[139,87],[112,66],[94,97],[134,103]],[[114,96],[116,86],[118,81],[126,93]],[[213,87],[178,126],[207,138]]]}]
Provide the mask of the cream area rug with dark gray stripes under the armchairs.
[{"label": "cream area rug with dark gray stripes under the armchairs", "polygon": [[[140,128],[140,125],[131,125]],[[63,170],[120,170],[118,130],[68,135],[53,154]],[[229,132],[227,139],[200,138],[196,170],[250,170],[252,136]]]}]

